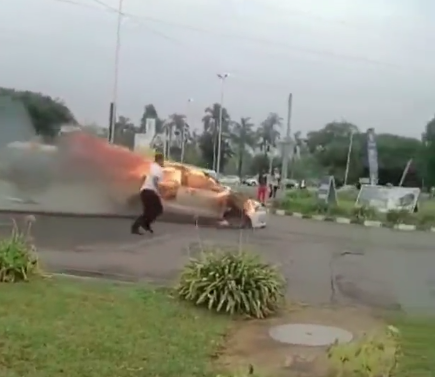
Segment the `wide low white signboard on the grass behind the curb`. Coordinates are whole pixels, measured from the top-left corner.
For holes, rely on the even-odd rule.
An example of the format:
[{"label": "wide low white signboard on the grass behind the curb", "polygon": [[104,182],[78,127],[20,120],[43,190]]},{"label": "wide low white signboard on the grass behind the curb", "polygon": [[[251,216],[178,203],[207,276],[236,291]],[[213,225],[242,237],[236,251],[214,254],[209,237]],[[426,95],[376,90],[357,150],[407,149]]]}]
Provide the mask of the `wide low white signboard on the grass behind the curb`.
[{"label": "wide low white signboard on the grass behind the curb", "polygon": [[355,205],[373,207],[379,212],[391,210],[413,212],[419,196],[418,187],[364,185],[361,187]]}]

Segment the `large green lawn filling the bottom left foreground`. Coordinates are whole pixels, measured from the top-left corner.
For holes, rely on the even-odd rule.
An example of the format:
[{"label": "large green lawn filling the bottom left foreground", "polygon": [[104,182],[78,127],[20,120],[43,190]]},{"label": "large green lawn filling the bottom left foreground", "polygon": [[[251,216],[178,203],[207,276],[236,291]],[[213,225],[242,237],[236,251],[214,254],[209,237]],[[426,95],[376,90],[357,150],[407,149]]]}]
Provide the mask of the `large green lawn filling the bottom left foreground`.
[{"label": "large green lawn filling the bottom left foreground", "polygon": [[0,284],[0,376],[214,376],[227,326],[163,291],[66,278]]}]

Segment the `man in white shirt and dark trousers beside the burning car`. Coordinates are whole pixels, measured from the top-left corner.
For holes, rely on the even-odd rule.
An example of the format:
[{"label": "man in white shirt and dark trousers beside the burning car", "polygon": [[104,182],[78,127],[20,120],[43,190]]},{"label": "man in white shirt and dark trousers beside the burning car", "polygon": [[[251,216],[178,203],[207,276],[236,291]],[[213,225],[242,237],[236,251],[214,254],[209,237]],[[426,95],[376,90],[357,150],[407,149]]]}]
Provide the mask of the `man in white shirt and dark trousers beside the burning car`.
[{"label": "man in white shirt and dark trousers beside the burning car", "polygon": [[162,199],[159,193],[159,183],[163,178],[163,154],[156,153],[154,162],[151,164],[142,187],[140,188],[140,201],[142,203],[142,214],[138,216],[131,226],[132,234],[142,234],[139,228],[154,233],[151,224],[163,212]]}]

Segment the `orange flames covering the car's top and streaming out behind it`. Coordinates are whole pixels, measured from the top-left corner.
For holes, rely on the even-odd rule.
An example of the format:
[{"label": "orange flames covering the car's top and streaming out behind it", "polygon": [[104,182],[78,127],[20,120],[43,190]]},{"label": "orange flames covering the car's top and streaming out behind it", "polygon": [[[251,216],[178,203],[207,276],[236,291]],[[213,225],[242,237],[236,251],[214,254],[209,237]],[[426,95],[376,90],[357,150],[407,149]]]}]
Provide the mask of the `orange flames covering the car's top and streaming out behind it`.
[{"label": "orange flames covering the car's top and streaming out behind it", "polygon": [[[66,151],[67,160],[73,165],[83,166],[93,172],[121,195],[136,193],[153,162],[153,151],[139,155],[129,149],[108,143],[84,132],[63,135],[60,148]],[[178,162],[165,161],[164,178],[161,183],[163,192],[171,192],[180,186],[204,190],[218,202],[231,200],[247,213],[255,212],[259,203],[246,195],[234,193],[222,186],[202,169]]]}]

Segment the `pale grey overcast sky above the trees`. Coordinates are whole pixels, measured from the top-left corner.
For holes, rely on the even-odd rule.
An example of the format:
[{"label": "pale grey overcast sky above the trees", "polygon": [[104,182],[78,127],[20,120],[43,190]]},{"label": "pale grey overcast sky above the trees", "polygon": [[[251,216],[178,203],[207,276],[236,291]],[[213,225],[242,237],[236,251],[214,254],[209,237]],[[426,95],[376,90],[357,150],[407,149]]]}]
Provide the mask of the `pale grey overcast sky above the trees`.
[{"label": "pale grey overcast sky above the trees", "polygon": [[[119,0],[0,0],[1,83],[108,123]],[[221,98],[234,120],[269,112],[303,134],[334,120],[420,137],[435,114],[430,0],[124,0],[118,115],[145,104],[201,127]],[[189,102],[189,98],[193,99]]]}]

